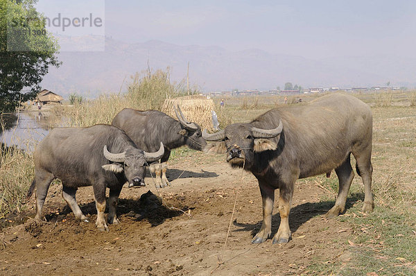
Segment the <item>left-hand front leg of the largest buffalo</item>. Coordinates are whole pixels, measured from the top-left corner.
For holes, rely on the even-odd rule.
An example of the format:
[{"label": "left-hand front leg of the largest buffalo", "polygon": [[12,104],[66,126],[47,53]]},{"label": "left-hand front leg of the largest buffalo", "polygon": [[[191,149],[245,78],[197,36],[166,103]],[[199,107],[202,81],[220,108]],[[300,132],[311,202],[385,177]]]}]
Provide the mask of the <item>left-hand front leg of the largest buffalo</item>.
[{"label": "left-hand front leg of the largest buffalo", "polygon": [[259,182],[259,187],[263,202],[263,223],[261,223],[260,231],[252,239],[252,243],[263,243],[272,234],[272,212],[275,202],[275,189],[262,182]]}]

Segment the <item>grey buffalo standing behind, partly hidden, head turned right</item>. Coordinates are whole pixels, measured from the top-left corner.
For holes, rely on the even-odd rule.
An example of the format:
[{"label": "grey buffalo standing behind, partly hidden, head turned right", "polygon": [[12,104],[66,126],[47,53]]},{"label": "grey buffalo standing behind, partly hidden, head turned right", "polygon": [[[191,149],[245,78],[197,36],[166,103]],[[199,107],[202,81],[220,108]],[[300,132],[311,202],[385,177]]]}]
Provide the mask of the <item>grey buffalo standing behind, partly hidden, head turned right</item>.
[{"label": "grey buffalo standing behind, partly hidden, head turned right", "polygon": [[173,148],[187,145],[194,150],[202,150],[207,142],[202,138],[200,126],[190,123],[182,114],[179,105],[175,107],[177,120],[157,110],[132,110],[125,108],[116,114],[112,125],[124,130],[125,133],[143,150],[155,150],[159,141],[164,144],[162,164],[150,165],[150,172],[155,172],[156,187],[166,187],[166,162]]}]

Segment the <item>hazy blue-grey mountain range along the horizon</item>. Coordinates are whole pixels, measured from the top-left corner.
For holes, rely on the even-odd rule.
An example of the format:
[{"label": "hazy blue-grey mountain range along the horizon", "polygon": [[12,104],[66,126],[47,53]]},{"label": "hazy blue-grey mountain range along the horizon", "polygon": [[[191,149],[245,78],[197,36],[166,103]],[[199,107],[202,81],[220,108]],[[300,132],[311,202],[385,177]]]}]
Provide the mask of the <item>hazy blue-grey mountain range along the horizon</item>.
[{"label": "hazy blue-grey mountain range along the horizon", "polygon": [[[91,38],[94,40],[94,37]],[[94,40],[95,41],[95,40]],[[71,42],[70,43],[74,43]],[[171,67],[171,80],[183,80],[204,92],[227,89],[275,89],[291,82],[302,87],[353,87],[416,84],[416,60],[392,56],[336,57],[310,60],[300,56],[274,55],[259,49],[231,51],[218,46],[180,46],[151,40],[127,44],[105,39],[103,52],[62,52],[63,64],[51,69],[42,87],[67,96],[119,92],[123,80],[147,68]]]}]

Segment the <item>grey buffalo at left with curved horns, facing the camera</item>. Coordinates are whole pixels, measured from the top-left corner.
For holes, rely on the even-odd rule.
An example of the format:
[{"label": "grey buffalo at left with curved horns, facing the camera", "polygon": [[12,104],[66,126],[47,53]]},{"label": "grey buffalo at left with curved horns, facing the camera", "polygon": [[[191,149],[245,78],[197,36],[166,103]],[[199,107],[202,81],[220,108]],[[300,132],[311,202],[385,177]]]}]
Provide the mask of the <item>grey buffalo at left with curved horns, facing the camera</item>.
[{"label": "grey buffalo at left with curved horns, facing the camera", "polygon": [[96,226],[108,230],[104,219],[105,189],[110,188],[108,223],[119,223],[116,205],[121,188],[144,186],[146,162],[155,162],[164,155],[159,142],[155,153],[137,148],[135,143],[114,126],[96,125],[89,128],[54,128],[35,148],[35,179],[28,198],[35,191],[36,219],[54,178],[62,181],[62,197],[76,218],[87,222],[76,202],[78,187],[92,185],[97,208]]}]

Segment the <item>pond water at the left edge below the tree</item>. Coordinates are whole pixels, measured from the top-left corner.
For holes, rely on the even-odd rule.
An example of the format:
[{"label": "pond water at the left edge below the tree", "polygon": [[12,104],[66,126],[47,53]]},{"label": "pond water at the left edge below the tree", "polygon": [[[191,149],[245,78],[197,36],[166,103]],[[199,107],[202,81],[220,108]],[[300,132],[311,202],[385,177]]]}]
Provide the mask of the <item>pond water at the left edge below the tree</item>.
[{"label": "pond water at the left edge below the tree", "polygon": [[43,112],[20,112],[11,128],[0,132],[0,143],[33,151],[49,133],[49,121]]}]

